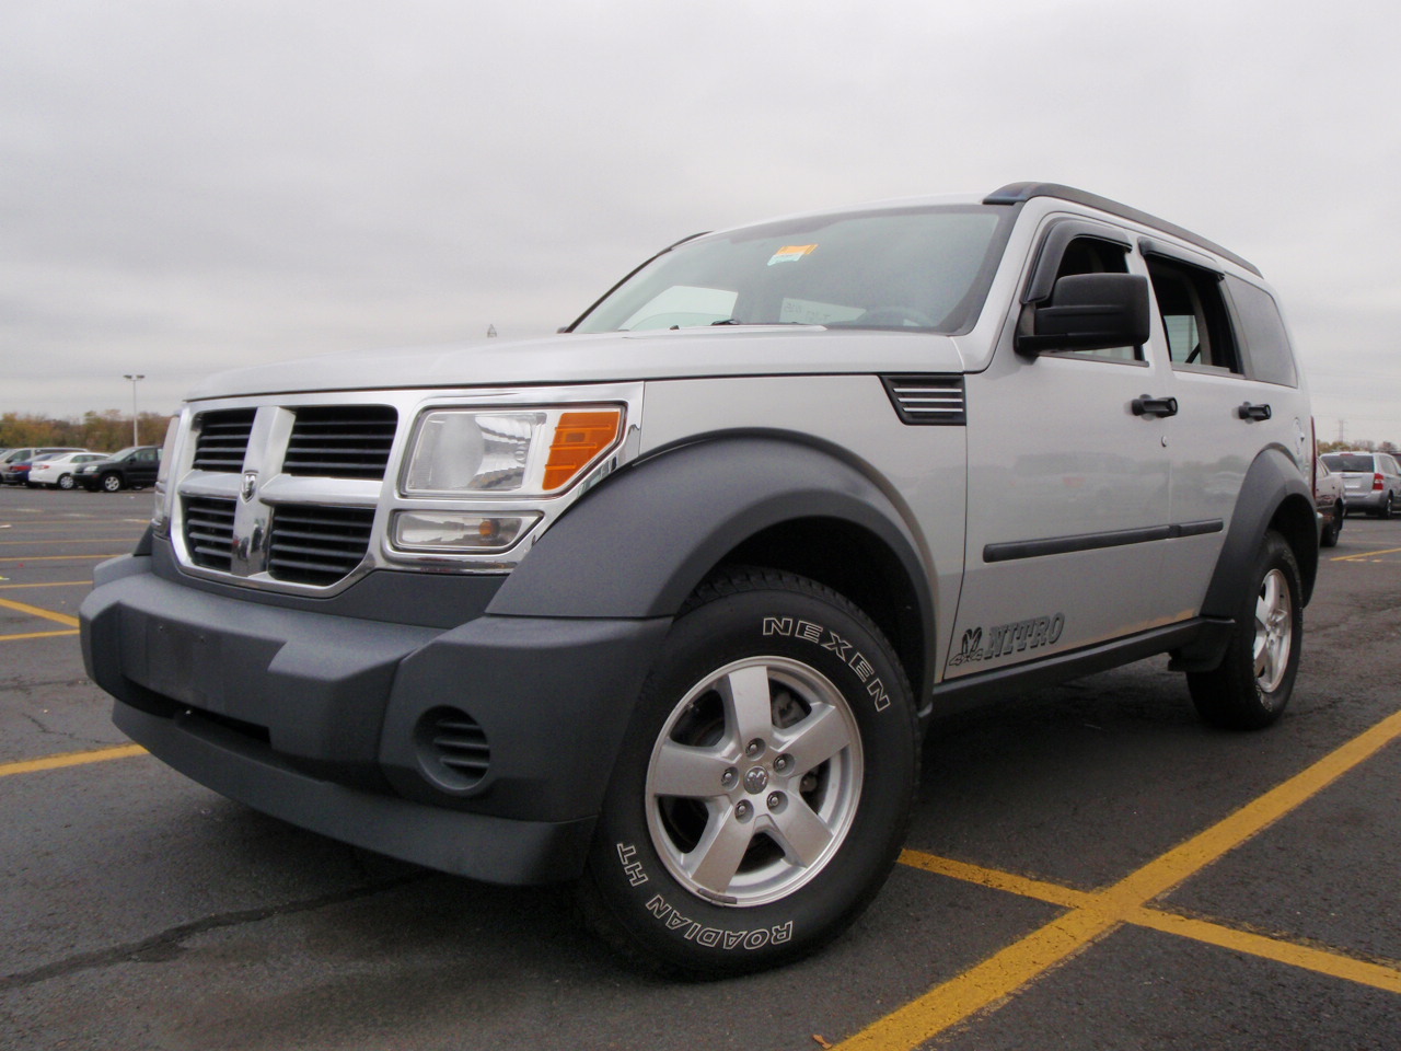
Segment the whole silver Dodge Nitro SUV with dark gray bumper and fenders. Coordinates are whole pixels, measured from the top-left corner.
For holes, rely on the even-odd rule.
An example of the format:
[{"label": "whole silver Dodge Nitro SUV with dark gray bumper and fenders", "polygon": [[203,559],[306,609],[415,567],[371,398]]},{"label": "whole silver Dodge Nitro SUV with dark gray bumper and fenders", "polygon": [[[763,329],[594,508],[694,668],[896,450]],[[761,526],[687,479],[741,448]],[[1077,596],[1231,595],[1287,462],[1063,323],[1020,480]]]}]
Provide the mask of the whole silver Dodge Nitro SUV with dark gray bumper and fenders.
[{"label": "whole silver Dodge Nitro SUV with dark gray bumper and fenders", "polygon": [[804,214],[549,339],[206,381],[84,656],[219,792],[737,974],[878,891],[943,712],[1170,653],[1275,722],[1313,455],[1210,241],[1047,184]]}]

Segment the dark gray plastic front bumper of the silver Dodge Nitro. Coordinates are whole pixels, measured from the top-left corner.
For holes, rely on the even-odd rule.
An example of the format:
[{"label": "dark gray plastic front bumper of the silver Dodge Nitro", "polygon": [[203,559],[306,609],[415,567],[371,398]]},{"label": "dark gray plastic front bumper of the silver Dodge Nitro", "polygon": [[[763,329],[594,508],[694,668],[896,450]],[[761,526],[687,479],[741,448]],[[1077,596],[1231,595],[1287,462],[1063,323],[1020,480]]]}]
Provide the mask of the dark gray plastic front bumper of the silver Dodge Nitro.
[{"label": "dark gray plastic front bumper of the silver Dodge Nitro", "polygon": [[[579,873],[670,624],[482,615],[443,631],[207,593],[147,556],[99,570],[83,653],[133,740],[293,824],[499,883]],[[425,757],[420,720],[444,705],[490,746],[468,788]]]}]

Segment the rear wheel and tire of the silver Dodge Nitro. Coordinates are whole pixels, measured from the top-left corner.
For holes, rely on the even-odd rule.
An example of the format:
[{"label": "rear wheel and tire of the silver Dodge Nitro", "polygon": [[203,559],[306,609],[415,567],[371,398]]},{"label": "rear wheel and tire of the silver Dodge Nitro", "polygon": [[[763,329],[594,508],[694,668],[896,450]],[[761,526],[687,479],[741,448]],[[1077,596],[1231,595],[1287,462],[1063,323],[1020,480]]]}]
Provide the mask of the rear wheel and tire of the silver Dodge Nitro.
[{"label": "rear wheel and tire of the silver Dodge Nitro", "polygon": [[1283,715],[1303,650],[1299,563],[1278,533],[1265,534],[1250,579],[1220,667],[1187,674],[1202,722],[1227,730],[1261,730]]}]

